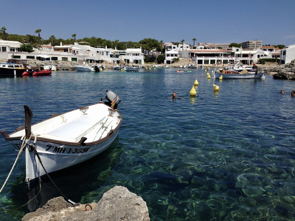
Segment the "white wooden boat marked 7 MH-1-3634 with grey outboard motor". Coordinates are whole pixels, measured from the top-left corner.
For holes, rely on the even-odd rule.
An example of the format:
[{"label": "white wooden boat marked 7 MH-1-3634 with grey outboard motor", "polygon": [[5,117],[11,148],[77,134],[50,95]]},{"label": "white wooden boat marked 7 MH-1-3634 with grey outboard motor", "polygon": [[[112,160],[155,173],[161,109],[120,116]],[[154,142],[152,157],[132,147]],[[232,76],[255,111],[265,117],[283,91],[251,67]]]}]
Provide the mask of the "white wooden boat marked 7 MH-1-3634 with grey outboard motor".
[{"label": "white wooden boat marked 7 MH-1-3634 with grey outboard motor", "polygon": [[116,109],[121,99],[110,90],[106,99],[32,125],[33,113],[24,105],[25,125],[9,135],[0,133],[20,152],[26,164],[26,182],[86,161],[113,143],[122,123]]}]

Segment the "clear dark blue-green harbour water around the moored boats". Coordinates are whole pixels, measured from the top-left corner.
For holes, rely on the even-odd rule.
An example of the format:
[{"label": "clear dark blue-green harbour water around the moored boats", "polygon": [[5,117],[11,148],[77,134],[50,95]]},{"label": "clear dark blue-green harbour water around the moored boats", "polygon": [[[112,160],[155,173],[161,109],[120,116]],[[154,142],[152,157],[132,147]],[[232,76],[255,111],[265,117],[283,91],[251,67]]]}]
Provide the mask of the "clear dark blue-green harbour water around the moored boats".
[{"label": "clear dark blue-green harbour water around the moored boats", "polygon": [[[144,70],[1,78],[0,129],[12,133],[24,124],[23,105],[36,123],[97,103],[113,90],[123,115],[115,142],[100,156],[52,174],[68,198],[98,202],[121,185],[147,202],[153,221],[294,220],[295,82],[272,76],[220,81],[201,69]],[[197,95],[191,97],[196,78]],[[172,92],[183,99],[167,98]],[[2,186],[17,152],[3,137],[0,145]],[[32,200],[1,209],[0,220],[21,220],[60,196],[46,177],[41,190],[28,191],[24,171],[19,159],[0,194],[1,207]]]}]

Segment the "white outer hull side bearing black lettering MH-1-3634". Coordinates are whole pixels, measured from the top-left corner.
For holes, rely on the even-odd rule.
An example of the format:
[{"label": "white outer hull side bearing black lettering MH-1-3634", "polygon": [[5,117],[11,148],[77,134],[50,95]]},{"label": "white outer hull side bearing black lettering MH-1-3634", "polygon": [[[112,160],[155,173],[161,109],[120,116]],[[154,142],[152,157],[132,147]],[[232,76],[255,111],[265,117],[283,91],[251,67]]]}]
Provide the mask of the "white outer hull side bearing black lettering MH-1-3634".
[{"label": "white outer hull side bearing black lettering MH-1-3634", "polygon": [[[90,146],[72,146],[46,141],[37,141],[35,146],[46,172],[51,173],[74,166],[101,154],[113,143],[117,134],[118,130],[104,142]],[[21,145],[19,141],[9,142],[14,146],[15,150],[19,152]],[[32,145],[32,142],[29,142],[29,145]],[[46,174],[39,163],[39,159],[30,148],[26,147],[20,156],[24,162],[28,162],[26,164],[27,182],[37,178],[39,175],[43,176]],[[35,162],[37,162],[37,164]]]}]

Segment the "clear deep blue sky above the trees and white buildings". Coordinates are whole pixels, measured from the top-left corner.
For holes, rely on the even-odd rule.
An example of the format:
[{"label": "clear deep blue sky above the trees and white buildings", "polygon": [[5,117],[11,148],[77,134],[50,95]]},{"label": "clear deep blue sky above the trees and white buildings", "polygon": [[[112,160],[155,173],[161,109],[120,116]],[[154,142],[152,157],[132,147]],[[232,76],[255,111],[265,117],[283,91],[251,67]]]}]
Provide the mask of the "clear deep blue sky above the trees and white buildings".
[{"label": "clear deep blue sky above the trees and white buildings", "polygon": [[[48,39],[100,37],[181,42],[295,44],[295,1],[47,0],[1,1],[0,27]],[[37,35],[37,34],[35,34]]]}]

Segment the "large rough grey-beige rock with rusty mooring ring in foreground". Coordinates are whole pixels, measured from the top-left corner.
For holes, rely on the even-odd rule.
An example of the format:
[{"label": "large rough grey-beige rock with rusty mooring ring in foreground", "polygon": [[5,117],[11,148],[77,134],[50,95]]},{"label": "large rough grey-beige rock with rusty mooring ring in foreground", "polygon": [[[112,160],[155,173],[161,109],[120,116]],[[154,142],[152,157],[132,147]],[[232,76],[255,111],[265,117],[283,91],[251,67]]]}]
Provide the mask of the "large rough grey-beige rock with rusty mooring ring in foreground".
[{"label": "large rough grey-beige rock with rusty mooring ring in foreground", "polygon": [[[93,209],[90,210],[90,207]],[[87,211],[85,211],[85,208]],[[145,201],[126,187],[115,186],[99,202],[73,207],[63,197],[49,200],[42,208],[24,215],[22,221],[149,221]]]}]

